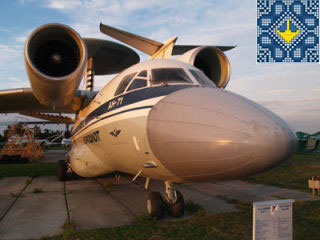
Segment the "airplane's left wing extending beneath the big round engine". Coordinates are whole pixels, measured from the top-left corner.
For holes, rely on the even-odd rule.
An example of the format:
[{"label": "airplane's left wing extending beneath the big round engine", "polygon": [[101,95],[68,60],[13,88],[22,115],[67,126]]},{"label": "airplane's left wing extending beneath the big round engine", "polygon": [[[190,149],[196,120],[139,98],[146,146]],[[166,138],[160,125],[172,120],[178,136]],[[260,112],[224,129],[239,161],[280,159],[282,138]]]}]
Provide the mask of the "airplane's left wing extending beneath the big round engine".
[{"label": "airplane's left wing extending beneath the big round engine", "polygon": [[[88,104],[97,92],[77,90],[73,101],[63,107],[46,106],[36,99],[31,88],[0,90],[0,113],[20,113],[56,123],[73,123],[74,119],[61,113],[75,113]],[[59,113],[48,114],[48,113]]]}]

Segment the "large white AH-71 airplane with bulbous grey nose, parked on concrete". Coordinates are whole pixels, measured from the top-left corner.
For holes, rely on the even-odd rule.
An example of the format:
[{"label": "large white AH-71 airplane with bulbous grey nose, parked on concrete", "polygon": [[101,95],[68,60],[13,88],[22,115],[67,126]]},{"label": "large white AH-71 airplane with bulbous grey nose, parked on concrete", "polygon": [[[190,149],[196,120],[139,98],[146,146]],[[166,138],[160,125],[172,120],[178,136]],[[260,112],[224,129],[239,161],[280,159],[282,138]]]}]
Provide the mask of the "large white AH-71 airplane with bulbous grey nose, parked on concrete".
[{"label": "large white AH-71 airplane with bulbous grey nose, parked on concrete", "polygon": [[[259,104],[225,90],[234,46],[160,43],[100,23],[119,42],[82,38],[58,24],[36,28],[25,43],[31,89],[0,91],[0,112],[74,124],[67,161],[82,177],[115,171],[164,181],[151,192],[147,212],[184,214],[173,183],[218,181],[253,175],[288,159],[296,148],[290,127]],[[149,55],[140,62],[135,48]],[[179,55],[172,58],[172,55]],[[100,91],[94,76],[117,74]],[[79,89],[84,79],[84,90]],[[75,113],[75,117],[62,113]]]}]

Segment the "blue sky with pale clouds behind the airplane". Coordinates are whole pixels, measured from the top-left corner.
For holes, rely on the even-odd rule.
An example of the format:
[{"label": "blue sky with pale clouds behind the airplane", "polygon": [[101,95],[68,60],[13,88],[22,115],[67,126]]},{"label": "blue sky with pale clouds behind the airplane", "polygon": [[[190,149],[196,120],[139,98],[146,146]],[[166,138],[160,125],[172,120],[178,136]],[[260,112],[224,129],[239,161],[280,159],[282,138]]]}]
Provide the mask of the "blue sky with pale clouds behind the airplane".
[{"label": "blue sky with pale clouds behind the airplane", "polygon": [[[231,64],[226,90],[267,107],[295,131],[320,130],[320,65],[257,64],[255,0],[1,0],[1,90],[30,87],[24,42],[33,29],[54,22],[83,37],[111,40],[100,33],[102,22],[160,42],[177,35],[177,44],[236,45],[225,52]],[[111,78],[96,77],[95,89]],[[0,114],[0,125],[17,118]]]}]

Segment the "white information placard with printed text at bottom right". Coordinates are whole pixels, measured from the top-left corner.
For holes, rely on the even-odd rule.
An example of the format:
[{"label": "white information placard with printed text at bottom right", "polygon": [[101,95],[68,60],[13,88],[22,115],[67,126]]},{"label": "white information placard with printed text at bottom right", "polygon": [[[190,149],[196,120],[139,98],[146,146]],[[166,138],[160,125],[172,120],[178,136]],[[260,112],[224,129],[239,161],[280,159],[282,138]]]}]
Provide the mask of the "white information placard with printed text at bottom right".
[{"label": "white information placard with printed text at bottom right", "polygon": [[292,199],[253,203],[253,240],[292,240]]}]

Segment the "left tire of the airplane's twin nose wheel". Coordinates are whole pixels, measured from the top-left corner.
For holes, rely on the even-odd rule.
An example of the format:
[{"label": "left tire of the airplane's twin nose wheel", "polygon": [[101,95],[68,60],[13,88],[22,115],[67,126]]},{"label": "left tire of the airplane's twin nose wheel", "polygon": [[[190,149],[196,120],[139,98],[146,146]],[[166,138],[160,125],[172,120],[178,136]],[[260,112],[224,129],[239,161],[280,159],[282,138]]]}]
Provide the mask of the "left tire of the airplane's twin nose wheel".
[{"label": "left tire of the airplane's twin nose wheel", "polygon": [[149,216],[156,219],[163,218],[164,214],[164,201],[159,192],[151,192],[148,195],[147,211]]}]

